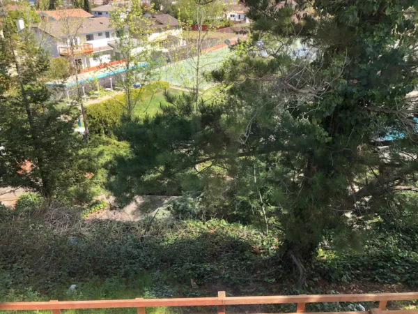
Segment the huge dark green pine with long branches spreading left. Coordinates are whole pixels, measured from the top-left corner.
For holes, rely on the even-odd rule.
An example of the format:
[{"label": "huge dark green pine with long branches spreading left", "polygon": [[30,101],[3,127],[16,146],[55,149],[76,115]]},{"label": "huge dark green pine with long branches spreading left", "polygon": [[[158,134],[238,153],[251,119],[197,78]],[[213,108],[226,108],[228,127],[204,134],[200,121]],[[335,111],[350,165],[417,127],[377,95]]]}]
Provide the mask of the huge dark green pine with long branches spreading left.
[{"label": "huge dark green pine with long branches spreading left", "polygon": [[349,245],[356,216],[418,191],[416,1],[304,2],[247,0],[254,36],[212,73],[227,101],[192,116],[189,96],[169,96],[163,114],[124,126],[132,156],[111,183],[122,198],[206,189],[238,211],[257,200],[299,284],[327,232]]}]

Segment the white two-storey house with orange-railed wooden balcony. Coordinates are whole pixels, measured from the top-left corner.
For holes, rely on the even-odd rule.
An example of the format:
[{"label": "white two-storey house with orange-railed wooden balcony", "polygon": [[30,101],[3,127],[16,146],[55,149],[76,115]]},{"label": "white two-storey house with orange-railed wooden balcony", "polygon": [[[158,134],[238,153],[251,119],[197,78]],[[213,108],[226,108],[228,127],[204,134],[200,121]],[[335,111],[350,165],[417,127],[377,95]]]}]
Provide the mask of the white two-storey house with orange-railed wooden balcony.
[{"label": "white two-storey house with orange-railed wooden balcony", "polygon": [[70,40],[73,39],[79,70],[109,63],[115,56],[118,32],[106,17],[55,20],[39,23],[33,29],[52,57],[72,57]]}]

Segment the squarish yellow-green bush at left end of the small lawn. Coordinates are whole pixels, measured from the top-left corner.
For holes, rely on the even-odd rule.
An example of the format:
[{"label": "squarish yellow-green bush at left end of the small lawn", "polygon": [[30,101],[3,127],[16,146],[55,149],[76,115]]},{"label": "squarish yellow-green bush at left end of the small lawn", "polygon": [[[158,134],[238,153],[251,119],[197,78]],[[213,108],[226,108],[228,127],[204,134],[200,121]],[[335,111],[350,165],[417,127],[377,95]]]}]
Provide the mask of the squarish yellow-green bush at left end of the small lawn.
[{"label": "squarish yellow-green bush at left end of the small lawn", "polygon": [[123,107],[114,100],[107,100],[86,107],[88,131],[92,134],[113,137],[114,128],[121,123]]}]

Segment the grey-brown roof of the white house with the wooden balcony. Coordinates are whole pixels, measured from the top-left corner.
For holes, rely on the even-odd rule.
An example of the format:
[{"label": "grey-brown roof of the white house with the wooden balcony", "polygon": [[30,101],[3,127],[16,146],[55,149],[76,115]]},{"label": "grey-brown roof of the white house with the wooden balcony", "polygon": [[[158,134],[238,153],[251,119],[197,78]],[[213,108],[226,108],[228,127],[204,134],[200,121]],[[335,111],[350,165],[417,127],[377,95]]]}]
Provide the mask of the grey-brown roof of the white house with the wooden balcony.
[{"label": "grey-brown roof of the white house with the wooden balcony", "polygon": [[100,31],[114,31],[110,26],[110,21],[106,17],[97,17],[94,19],[72,18],[69,20],[56,20],[47,23],[38,23],[34,27],[45,31],[52,37],[61,38],[70,34],[79,35],[87,33],[97,33]]}]

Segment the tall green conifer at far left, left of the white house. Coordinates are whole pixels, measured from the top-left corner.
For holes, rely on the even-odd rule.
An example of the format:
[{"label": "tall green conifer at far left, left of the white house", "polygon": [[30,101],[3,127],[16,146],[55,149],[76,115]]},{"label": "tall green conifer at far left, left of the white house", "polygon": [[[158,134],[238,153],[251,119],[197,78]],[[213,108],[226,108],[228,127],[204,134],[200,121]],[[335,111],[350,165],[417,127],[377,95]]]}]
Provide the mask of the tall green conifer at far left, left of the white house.
[{"label": "tall green conifer at far left, left of the white house", "polygon": [[86,179],[82,142],[73,130],[77,108],[61,110],[49,100],[49,56],[29,25],[15,33],[3,24],[3,35],[0,184],[36,190],[50,200]]}]

